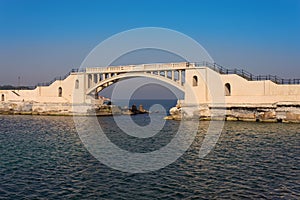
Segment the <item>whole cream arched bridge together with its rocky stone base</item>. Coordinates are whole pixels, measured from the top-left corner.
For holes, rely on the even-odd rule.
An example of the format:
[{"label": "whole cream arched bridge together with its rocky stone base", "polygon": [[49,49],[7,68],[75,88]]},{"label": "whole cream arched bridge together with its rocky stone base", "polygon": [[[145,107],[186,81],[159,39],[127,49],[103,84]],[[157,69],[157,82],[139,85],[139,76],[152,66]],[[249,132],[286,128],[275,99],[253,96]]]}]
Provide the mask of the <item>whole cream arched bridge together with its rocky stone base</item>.
[{"label": "whole cream arched bridge together with its rocky stone base", "polygon": [[25,113],[82,115],[101,104],[97,97],[103,89],[135,77],[159,80],[183,91],[182,109],[190,116],[207,118],[226,112],[228,120],[300,121],[300,79],[255,76],[206,62],[75,69],[31,89],[0,90],[0,106]]}]

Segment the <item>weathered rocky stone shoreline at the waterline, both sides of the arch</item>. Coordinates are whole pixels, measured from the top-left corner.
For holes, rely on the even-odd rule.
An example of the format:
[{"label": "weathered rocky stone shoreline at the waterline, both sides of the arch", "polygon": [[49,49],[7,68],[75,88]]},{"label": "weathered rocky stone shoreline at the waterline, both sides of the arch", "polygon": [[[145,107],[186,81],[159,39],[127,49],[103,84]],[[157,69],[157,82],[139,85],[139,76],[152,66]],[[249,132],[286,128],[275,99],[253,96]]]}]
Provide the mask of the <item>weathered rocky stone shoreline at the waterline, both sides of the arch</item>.
[{"label": "weathered rocky stone shoreline at the waterline, both sides of the arch", "polygon": [[[144,110],[145,111],[145,110]],[[40,116],[113,116],[139,115],[149,112],[131,112],[115,105],[5,102],[0,103],[0,115]],[[215,113],[215,114],[212,114]],[[217,113],[217,114],[216,114]],[[218,114],[219,113],[219,114]],[[177,105],[170,109],[165,120],[193,119],[199,121],[245,121],[262,123],[300,123],[300,103],[281,102],[276,104],[243,104],[211,106]]]}]

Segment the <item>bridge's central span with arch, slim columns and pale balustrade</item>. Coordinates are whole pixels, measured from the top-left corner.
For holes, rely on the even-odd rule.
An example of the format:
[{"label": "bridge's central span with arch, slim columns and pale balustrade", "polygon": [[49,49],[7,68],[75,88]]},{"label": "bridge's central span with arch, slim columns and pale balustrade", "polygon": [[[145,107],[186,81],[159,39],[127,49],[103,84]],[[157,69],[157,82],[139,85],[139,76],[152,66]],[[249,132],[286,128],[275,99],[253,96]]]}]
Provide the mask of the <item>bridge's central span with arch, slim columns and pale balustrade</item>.
[{"label": "bridge's central span with arch, slim columns and pale balustrade", "polygon": [[100,92],[104,88],[124,79],[147,77],[166,82],[184,91],[185,70],[189,63],[143,64],[111,66],[107,68],[86,68],[86,94]]}]

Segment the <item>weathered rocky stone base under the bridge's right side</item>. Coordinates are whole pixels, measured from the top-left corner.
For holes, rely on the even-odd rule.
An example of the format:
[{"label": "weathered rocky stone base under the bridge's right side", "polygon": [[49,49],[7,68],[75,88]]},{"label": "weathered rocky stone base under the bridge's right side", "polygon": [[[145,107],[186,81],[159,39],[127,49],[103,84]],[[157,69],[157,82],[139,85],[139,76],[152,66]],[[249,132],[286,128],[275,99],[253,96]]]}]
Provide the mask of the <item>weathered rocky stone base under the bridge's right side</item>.
[{"label": "weathered rocky stone base under the bridge's right side", "polygon": [[226,105],[224,107],[201,105],[194,107],[193,112],[188,114],[189,109],[184,106],[171,108],[170,116],[166,119],[181,120],[183,117],[191,117],[199,118],[199,120],[300,123],[300,102],[272,105]]}]

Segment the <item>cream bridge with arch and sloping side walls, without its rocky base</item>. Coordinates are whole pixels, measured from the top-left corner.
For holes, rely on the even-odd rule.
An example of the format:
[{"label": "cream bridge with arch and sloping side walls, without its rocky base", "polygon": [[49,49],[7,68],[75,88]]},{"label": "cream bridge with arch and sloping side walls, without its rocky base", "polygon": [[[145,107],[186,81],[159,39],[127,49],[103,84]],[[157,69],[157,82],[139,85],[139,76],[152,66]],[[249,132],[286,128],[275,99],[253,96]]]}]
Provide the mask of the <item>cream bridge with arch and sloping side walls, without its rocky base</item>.
[{"label": "cream bridge with arch and sloping side walls, without its rocky base", "polygon": [[[99,92],[125,79],[147,77],[183,91],[184,102],[212,102],[208,83],[219,88],[227,104],[295,102],[300,99],[300,79],[256,76],[245,70],[226,69],[216,63],[156,63],[74,69],[66,76],[35,88],[1,91],[3,101],[89,104]],[[217,84],[216,81],[219,80]]]}]

